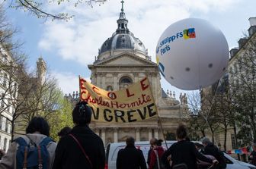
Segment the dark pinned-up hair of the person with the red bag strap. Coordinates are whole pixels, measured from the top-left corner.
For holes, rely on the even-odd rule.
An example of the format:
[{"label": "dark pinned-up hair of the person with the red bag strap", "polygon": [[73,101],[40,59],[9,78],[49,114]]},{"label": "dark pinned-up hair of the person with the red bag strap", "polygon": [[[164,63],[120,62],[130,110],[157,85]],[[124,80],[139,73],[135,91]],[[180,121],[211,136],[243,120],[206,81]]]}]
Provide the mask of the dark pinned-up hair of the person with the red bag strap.
[{"label": "dark pinned-up hair of the person with the red bag strap", "polygon": [[87,102],[78,102],[72,111],[74,124],[90,124],[91,122],[91,108]]}]

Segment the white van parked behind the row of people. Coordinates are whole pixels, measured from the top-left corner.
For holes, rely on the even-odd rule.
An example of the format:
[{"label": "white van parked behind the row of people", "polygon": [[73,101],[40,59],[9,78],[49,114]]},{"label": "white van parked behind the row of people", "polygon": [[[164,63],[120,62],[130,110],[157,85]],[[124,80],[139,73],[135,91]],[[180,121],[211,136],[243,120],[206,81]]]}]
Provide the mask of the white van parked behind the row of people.
[{"label": "white van parked behind the row of people", "polygon": [[[166,141],[168,147],[170,147],[174,142],[176,141]],[[106,167],[105,169],[116,169],[116,161],[117,161],[117,152],[120,149],[124,149],[126,146],[126,142],[116,142],[116,143],[110,143],[107,145],[107,152],[106,152]],[[149,152],[149,141],[146,142],[135,142],[135,146],[137,149],[141,149],[144,155],[144,158],[148,158],[148,152]],[[167,149],[165,146],[165,142],[162,142],[162,146],[164,149]],[[226,169],[256,169],[256,167],[252,164],[248,164],[242,161],[235,160],[235,158],[232,158],[231,156],[224,153],[226,158],[227,167]]]}]

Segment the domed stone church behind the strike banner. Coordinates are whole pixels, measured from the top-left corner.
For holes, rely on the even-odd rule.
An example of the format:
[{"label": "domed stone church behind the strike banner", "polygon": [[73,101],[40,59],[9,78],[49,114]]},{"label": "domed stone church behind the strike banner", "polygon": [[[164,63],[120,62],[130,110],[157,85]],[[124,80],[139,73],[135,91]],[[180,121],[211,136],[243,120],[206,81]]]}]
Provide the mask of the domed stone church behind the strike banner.
[{"label": "domed stone church behind the strike banner", "polygon": [[[136,141],[152,137],[163,139],[162,131],[168,133],[168,136],[174,136],[178,123],[184,122],[186,102],[179,102],[174,93],[162,90],[158,65],[151,60],[142,41],[128,29],[123,2],[117,30],[104,41],[94,63],[89,64],[88,68],[91,70],[91,83],[108,91],[124,89],[148,77],[162,119],[162,127],[158,117],[126,124],[92,122],[90,127],[101,136],[105,145],[123,142],[127,136],[133,136]],[[184,97],[181,98],[184,100]]]}]

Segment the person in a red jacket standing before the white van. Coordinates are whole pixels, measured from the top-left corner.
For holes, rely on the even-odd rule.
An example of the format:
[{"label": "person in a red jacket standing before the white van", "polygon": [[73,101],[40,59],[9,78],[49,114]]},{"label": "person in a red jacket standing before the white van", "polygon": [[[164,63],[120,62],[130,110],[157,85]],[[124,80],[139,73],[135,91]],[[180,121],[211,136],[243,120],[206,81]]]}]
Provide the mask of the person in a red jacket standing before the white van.
[{"label": "person in a red jacket standing before the white van", "polygon": [[165,152],[165,149],[162,147],[162,142],[162,139],[158,139],[157,142],[155,142],[155,144],[153,145],[153,149],[150,155],[149,169],[163,168],[161,158]]}]

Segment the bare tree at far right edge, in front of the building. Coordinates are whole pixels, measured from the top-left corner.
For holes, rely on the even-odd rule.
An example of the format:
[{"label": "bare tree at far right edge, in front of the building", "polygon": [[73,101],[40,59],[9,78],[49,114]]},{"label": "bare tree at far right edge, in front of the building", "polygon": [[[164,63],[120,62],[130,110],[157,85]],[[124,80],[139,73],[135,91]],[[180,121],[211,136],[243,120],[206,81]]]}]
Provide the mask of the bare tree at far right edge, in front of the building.
[{"label": "bare tree at far right edge, in front of the building", "polygon": [[[230,85],[235,93],[240,129],[247,128],[250,132],[242,136],[244,143],[256,140],[256,38],[251,36],[238,55],[232,58]],[[241,134],[246,133],[246,129]]]}]

